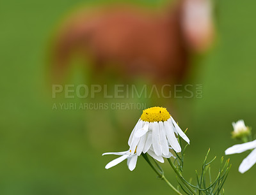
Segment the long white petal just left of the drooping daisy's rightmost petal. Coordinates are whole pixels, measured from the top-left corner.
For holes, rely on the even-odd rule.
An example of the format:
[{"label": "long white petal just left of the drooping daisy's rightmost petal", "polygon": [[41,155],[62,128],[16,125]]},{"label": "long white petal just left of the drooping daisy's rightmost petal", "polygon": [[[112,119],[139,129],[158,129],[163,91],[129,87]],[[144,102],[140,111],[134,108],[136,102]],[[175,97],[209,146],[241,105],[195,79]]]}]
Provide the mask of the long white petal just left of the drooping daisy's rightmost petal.
[{"label": "long white petal just left of the drooping daisy's rightmost petal", "polygon": [[168,122],[164,122],[164,127],[165,127],[165,131],[166,131],[166,136],[167,139],[171,145],[171,147],[173,148],[173,150],[175,150],[175,152],[180,152],[181,148],[179,145],[179,141],[177,140],[174,132],[173,132],[173,125],[169,124]]}]

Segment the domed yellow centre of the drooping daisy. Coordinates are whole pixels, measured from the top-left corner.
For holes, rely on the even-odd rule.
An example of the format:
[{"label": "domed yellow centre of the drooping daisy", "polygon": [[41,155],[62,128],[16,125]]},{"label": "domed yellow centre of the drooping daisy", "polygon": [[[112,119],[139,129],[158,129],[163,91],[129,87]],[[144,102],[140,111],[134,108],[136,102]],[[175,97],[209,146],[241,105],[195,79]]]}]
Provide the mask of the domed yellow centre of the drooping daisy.
[{"label": "domed yellow centre of the drooping daisy", "polygon": [[166,108],[156,106],[143,110],[140,119],[147,122],[159,122],[170,119],[170,116]]}]

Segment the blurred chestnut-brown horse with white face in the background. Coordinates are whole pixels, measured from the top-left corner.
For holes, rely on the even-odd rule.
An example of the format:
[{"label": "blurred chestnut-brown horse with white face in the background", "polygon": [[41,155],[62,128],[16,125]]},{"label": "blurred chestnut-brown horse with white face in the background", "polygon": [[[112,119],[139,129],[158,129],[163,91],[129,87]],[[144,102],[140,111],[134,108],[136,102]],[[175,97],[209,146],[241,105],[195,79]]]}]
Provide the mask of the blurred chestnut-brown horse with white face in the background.
[{"label": "blurred chestnut-brown horse with white face in the background", "polygon": [[90,54],[97,71],[118,69],[154,82],[184,78],[192,52],[212,42],[210,0],[181,0],[163,13],[116,6],[70,17],[58,31],[54,77],[62,78],[75,52]]}]

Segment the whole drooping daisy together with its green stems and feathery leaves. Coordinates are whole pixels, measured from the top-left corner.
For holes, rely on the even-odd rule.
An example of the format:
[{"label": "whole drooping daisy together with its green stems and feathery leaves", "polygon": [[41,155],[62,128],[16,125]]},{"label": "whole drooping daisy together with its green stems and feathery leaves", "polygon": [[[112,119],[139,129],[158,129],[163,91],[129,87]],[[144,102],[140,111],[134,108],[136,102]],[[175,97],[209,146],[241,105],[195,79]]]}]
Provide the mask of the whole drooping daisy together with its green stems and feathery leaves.
[{"label": "whole drooping daisy together with its green stems and feathery leaves", "polygon": [[[185,141],[184,145],[182,140]],[[107,152],[106,154],[120,155],[106,165],[106,169],[115,166],[127,159],[129,170],[134,170],[137,159],[142,155],[157,176],[164,180],[177,194],[222,194],[223,184],[227,178],[230,166],[229,160],[221,158],[220,169],[217,177],[211,178],[210,165],[214,159],[208,161],[205,156],[202,171],[196,171],[195,184],[188,182],[183,176],[184,152],[189,145],[186,131],[183,132],[173,119],[172,115],[163,107],[152,107],[143,110],[136,126],[131,132],[128,145],[129,150],[124,152]],[[183,147],[184,145],[184,147]],[[164,171],[159,163],[167,159],[175,175],[177,176],[177,187],[171,184],[164,176]],[[173,177],[176,177],[173,175]]]}]

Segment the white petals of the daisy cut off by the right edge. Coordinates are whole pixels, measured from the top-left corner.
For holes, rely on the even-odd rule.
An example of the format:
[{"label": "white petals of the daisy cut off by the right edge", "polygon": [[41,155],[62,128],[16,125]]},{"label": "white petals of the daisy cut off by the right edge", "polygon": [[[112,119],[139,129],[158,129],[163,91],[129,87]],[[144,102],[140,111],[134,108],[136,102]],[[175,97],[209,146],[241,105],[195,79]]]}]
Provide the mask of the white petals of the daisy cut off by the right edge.
[{"label": "white petals of the daisy cut off by the right edge", "polygon": [[[253,149],[253,150],[252,150]],[[252,150],[252,152],[243,160],[239,166],[239,172],[244,173],[256,163],[256,140],[249,141],[247,143],[237,144],[230,148],[227,148],[225,154],[239,154],[246,150]]]}]

